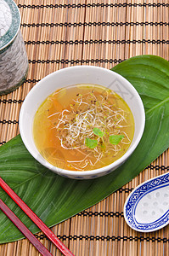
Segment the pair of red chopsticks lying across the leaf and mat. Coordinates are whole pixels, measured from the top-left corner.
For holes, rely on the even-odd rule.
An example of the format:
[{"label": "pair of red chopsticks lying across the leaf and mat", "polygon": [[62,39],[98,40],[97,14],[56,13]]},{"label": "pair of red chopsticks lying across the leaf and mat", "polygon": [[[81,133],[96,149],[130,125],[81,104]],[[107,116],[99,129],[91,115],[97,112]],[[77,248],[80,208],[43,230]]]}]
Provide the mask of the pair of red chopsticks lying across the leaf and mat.
[{"label": "pair of red chopsticks lying across the leaf and mat", "polygon": [[[14,190],[11,189],[7,183],[3,181],[3,178],[0,177],[0,187],[15,201],[15,203],[25,212],[25,214],[31,218],[31,220],[37,224],[37,227],[42,230],[42,232],[48,237],[50,241],[54,243],[56,247],[59,248],[59,251],[65,256],[74,256],[70,250],[65,247],[65,244],[59,240],[54,233],[48,229],[47,225],[42,222],[37,215],[31,211],[31,208],[28,207],[24,201],[20,199],[18,195],[15,194]],[[39,253],[44,256],[51,256],[52,254],[48,252],[48,249],[42,245],[42,243],[34,236],[30,230],[25,227],[20,219],[12,212],[7,205],[0,199],[0,209],[10,218],[10,220],[18,227],[18,229],[24,234],[25,237],[37,248]]]}]

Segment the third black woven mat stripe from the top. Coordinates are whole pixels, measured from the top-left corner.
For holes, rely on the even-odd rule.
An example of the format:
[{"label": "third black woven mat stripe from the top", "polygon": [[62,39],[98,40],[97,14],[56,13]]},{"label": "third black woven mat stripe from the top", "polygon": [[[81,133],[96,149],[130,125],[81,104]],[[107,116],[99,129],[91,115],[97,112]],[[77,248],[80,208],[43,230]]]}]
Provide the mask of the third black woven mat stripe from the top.
[{"label": "third black woven mat stripe from the top", "polygon": [[61,41],[25,41],[25,44],[169,44],[169,40],[61,40]]}]

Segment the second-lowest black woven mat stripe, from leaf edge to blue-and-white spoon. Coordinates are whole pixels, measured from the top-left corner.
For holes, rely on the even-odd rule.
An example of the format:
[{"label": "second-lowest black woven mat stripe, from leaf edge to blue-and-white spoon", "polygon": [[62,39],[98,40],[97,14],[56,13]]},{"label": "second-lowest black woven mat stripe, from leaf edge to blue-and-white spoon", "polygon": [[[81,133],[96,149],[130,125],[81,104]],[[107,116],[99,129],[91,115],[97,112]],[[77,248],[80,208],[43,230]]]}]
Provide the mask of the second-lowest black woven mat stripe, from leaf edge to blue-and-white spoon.
[{"label": "second-lowest black woven mat stripe, from leaf edge to blue-and-white spoon", "polygon": [[87,217],[122,217],[124,218],[123,212],[79,212],[77,213],[78,216],[87,216]]}]

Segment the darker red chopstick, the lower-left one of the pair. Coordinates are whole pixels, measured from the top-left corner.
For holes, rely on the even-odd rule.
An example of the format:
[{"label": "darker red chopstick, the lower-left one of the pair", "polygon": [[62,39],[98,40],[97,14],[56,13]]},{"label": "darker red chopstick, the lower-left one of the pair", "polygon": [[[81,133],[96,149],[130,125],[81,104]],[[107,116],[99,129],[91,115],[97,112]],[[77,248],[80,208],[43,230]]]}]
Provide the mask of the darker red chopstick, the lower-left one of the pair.
[{"label": "darker red chopstick, the lower-left one of the pair", "polygon": [[48,252],[47,248],[44,247],[40,241],[38,241],[37,237],[33,236],[31,231],[26,228],[25,224],[20,221],[20,218],[18,218],[1,199],[0,209],[8,216],[8,218],[10,218],[10,220],[17,226],[17,228],[24,234],[24,236],[27,237],[29,241],[31,241],[39,253],[41,253],[43,256],[52,256],[52,254]]}]

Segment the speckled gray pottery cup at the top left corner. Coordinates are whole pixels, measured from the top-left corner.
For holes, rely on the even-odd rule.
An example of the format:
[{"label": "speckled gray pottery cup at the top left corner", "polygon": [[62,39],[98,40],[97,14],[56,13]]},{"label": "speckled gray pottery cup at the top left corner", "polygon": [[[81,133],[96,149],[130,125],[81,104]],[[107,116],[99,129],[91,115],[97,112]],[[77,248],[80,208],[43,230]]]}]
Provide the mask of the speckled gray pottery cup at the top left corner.
[{"label": "speckled gray pottery cup at the top left corner", "polygon": [[17,89],[27,71],[19,9],[13,0],[0,0],[0,95]]}]

